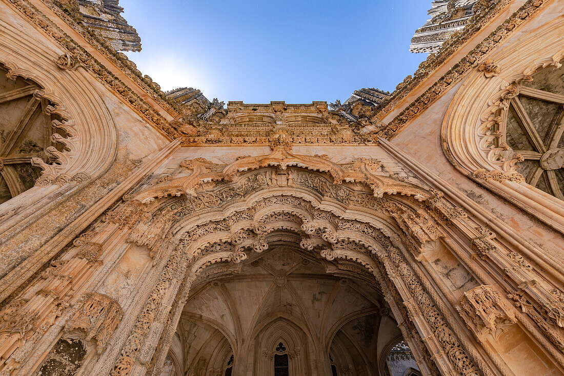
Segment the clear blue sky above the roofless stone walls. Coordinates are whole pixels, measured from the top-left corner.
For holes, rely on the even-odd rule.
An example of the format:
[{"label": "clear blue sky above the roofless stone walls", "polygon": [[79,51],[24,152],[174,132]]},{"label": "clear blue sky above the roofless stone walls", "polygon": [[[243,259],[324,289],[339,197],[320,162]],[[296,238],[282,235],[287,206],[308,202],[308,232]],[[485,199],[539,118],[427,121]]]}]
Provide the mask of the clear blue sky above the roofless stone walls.
[{"label": "clear blue sky above the roofless stone walls", "polygon": [[431,0],[121,0],[143,50],[127,53],[171,90],[245,103],[346,100],[393,91],[426,54],[409,53]]}]

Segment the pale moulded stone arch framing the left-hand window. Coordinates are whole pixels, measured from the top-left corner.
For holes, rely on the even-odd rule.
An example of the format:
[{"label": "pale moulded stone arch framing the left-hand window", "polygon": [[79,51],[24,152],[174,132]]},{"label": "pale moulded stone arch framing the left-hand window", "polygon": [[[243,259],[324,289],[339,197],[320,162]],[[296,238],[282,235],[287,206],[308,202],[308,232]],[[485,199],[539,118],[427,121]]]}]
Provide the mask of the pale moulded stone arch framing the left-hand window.
[{"label": "pale moulded stone arch framing the left-hand window", "polygon": [[[78,62],[69,55],[54,55],[52,51],[58,47],[50,50],[32,34],[4,23],[0,23],[0,29],[0,63],[7,67],[8,77],[37,82],[41,98],[52,103],[48,111],[58,115],[52,126],[67,134],[55,136],[64,150],[46,150],[56,163],[33,159],[32,163],[42,169],[36,186],[0,207],[0,224],[10,226],[38,208],[49,208],[55,196],[72,192],[73,187],[105,173],[116,156],[118,135],[98,88]],[[24,199],[25,207],[19,203]]]}]

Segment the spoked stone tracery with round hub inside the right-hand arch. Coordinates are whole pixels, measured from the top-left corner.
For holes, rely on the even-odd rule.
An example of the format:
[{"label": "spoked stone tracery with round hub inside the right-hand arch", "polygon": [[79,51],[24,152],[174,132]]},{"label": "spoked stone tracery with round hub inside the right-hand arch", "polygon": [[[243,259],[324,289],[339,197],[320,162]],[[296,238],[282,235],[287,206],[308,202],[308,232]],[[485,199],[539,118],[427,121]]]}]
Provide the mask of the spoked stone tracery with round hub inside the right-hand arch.
[{"label": "spoked stone tracery with round hub inside the right-hand arch", "polygon": [[527,183],[564,200],[564,68],[547,67],[522,82],[500,125],[501,143],[523,156]]}]

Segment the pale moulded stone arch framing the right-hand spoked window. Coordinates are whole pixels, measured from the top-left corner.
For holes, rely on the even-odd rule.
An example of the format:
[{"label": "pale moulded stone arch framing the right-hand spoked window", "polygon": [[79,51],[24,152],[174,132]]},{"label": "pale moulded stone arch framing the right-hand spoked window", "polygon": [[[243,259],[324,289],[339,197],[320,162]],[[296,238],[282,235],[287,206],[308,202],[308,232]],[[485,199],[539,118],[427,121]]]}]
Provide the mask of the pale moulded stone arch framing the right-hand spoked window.
[{"label": "pale moulded stone arch framing the right-hand spoked window", "polygon": [[510,102],[537,69],[561,66],[563,32],[564,20],[556,18],[488,55],[457,91],[442,125],[444,153],[457,169],[561,232],[564,202],[517,171],[525,158],[505,143],[503,127]]}]

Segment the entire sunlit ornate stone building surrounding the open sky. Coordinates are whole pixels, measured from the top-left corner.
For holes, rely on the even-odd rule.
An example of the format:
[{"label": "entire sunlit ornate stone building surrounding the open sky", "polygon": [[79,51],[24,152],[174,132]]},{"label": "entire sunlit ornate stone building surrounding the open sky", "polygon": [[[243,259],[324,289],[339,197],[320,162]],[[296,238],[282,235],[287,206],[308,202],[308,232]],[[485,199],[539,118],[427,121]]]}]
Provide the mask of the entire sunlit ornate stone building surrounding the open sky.
[{"label": "entire sunlit ornate stone building surrounding the open sky", "polygon": [[564,374],[564,4],[433,7],[393,93],[225,104],[0,2],[0,375]]}]

